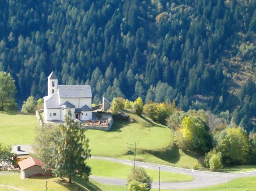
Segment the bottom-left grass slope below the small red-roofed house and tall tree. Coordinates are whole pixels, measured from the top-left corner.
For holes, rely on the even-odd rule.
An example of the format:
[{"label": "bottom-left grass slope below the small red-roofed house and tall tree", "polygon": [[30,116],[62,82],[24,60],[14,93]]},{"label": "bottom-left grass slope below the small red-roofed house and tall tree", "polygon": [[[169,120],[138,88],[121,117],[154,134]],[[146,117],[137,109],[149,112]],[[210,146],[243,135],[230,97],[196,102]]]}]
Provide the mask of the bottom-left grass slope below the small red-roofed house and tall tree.
[{"label": "bottom-left grass slope below the small red-roofed house and tall tree", "polygon": [[[80,187],[54,177],[32,177],[21,180],[20,174],[1,175],[0,184],[11,185],[26,191],[45,191],[46,180],[48,180],[47,191],[127,191],[127,187],[104,185],[95,181],[76,180],[82,186]],[[2,191],[2,187],[0,190]]]}]

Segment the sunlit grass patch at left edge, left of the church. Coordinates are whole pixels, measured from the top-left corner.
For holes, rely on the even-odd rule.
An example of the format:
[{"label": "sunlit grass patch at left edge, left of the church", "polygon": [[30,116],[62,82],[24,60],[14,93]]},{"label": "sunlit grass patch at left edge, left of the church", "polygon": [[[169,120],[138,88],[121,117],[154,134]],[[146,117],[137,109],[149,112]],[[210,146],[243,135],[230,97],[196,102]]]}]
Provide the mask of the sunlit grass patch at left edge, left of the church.
[{"label": "sunlit grass patch at left edge, left of the church", "polygon": [[24,145],[34,142],[36,115],[0,112],[0,141],[8,145]]}]

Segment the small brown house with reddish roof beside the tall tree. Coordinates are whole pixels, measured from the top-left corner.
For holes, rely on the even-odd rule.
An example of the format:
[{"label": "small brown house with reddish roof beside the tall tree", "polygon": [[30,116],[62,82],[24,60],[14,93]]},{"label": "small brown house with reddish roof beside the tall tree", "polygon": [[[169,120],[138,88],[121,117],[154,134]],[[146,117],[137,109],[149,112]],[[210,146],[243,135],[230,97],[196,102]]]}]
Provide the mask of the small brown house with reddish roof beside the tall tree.
[{"label": "small brown house with reddish roof beside the tall tree", "polygon": [[50,170],[42,169],[44,165],[39,159],[29,157],[23,161],[18,162],[20,167],[20,179],[25,179],[34,175],[46,175],[51,174]]}]

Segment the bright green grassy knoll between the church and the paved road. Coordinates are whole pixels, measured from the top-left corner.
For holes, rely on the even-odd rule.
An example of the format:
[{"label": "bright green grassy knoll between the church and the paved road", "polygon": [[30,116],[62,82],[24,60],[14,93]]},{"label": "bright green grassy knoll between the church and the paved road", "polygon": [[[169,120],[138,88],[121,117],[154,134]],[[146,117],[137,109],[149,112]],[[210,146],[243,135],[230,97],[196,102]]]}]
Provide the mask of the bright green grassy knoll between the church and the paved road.
[{"label": "bright green grassy knoll between the church and the paved road", "polygon": [[92,155],[132,159],[133,145],[136,141],[137,159],[141,161],[188,167],[192,167],[197,161],[177,148],[164,150],[166,147],[172,147],[173,144],[173,134],[170,129],[152,122],[147,117],[139,117],[131,112],[129,115],[134,119],[134,123],[115,120],[110,131],[93,129],[86,131],[90,139]]}]

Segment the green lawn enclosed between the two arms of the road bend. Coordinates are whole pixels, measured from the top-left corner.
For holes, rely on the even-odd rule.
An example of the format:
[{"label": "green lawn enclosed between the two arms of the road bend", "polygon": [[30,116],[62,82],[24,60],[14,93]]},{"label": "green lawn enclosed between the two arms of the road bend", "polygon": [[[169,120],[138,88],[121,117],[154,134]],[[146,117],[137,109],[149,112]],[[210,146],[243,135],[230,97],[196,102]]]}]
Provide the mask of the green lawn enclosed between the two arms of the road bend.
[{"label": "green lawn enclosed between the two arms of the road bend", "polygon": [[[89,159],[87,164],[92,167],[92,175],[101,177],[114,177],[126,179],[131,172],[132,166],[122,163],[104,161],[100,159]],[[146,169],[147,174],[153,178],[153,181],[158,181],[159,172],[157,170]],[[181,182],[192,181],[193,177],[182,173],[171,173],[161,171],[162,182]]]}]

